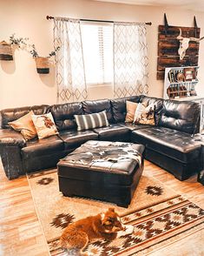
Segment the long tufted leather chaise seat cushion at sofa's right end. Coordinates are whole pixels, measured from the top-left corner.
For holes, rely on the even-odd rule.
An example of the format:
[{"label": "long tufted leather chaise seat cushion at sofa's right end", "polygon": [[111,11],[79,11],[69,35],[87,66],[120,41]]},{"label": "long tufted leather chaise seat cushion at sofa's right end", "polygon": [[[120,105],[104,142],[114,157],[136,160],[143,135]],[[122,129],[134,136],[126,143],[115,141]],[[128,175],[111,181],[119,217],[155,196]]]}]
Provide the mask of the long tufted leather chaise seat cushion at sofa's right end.
[{"label": "long tufted leather chaise seat cushion at sofa's right end", "polygon": [[188,133],[159,126],[133,131],[132,142],[182,162],[198,158],[201,149],[201,144]]}]

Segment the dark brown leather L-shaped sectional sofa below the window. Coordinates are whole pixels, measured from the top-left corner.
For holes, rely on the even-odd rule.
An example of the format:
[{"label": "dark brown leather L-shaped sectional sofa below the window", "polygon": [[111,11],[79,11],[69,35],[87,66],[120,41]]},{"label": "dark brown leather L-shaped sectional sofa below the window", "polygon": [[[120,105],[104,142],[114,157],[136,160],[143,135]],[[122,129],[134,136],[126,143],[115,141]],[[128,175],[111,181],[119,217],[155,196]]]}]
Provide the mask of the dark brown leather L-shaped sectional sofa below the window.
[{"label": "dark brown leather L-shaped sectional sofa below the window", "polygon": [[[155,104],[155,126],[124,122],[126,100]],[[59,135],[25,141],[21,133],[10,129],[8,122],[33,110],[35,114],[51,112]],[[77,131],[74,115],[107,111],[109,126]],[[145,145],[145,158],[172,172],[177,179],[188,179],[201,169],[201,145],[194,140],[199,131],[201,109],[194,102],[150,98],[144,95],[128,98],[88,100],[79,103],[37,105],[1,111],[0,154],[8,179],[25,172],[36,172],[56,166],[88,140],[133,142]]]}]

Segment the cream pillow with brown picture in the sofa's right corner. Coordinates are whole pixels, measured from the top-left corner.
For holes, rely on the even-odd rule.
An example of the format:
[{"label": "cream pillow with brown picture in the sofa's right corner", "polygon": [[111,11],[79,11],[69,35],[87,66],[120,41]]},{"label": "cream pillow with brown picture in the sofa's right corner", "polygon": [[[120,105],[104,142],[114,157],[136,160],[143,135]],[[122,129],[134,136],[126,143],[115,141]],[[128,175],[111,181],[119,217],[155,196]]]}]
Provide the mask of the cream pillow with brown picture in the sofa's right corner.
[{"label": "cream pillow with brown picture in the sofa's right corner", "polygon": [[136,125],[155,125],[155,105],[145,106],[139,103],[135,111],[134,123]]}]

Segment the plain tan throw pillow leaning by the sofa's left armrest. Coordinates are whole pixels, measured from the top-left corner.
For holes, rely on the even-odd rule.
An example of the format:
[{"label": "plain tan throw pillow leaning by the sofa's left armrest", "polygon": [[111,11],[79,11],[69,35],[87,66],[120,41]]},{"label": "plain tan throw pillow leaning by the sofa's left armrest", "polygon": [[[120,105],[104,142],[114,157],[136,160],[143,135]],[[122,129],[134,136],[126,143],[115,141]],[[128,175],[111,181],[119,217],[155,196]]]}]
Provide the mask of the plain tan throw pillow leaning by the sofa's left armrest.
[{"label": "plain tan throw pillow leaning by the sofa's left armrest", "polygon": [[25,140],[36,137],[36,128],[31,118],[32,115],[34,115],[34,112],[30,111],[22,118],[18,118],[13,122],[9,122],[10,127],[12,127],[16,131],[20,131]]}]

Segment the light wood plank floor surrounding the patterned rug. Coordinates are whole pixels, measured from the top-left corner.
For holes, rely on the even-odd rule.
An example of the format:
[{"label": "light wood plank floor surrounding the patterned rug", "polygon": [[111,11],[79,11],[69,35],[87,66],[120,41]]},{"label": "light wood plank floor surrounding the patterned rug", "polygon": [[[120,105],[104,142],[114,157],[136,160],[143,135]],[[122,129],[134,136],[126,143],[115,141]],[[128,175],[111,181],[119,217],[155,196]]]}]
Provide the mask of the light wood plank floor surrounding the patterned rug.
[{"label": "light wood plank floor surrounding the patterned rug", "polygon": [[[144,172],[204,208],[204,186],[196,181],[195,176],[181,182],[148,161],[145,162]],[[194,238],[202,235],[203,232],[194,233],[192,237],[174,242],[148,255],[204,255],[202,249],[194,254]],[[201,240],[203,244],[204,237]],[[189,242],[192,243],[193,251],[186,249]],[[0,255],[49,255],[26,177],[8,180],[4,175],[2,165],[0,165]]]}]

